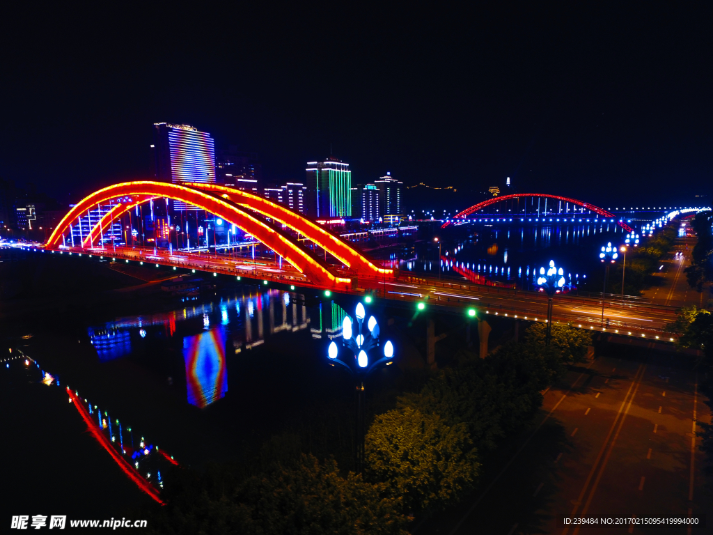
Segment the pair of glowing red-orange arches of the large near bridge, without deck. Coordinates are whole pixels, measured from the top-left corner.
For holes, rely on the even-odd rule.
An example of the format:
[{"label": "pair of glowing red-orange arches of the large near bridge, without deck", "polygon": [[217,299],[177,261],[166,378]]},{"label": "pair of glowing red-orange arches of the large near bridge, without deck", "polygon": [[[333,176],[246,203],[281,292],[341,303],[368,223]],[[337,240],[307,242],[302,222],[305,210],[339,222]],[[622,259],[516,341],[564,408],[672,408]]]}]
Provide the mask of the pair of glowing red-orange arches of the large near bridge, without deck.
[{"label": "pair of glowing red-orange arches of the large near bridge, without deck", "polygon": [[[116,220],[130,210],[135,210],[138,205],[150,203],[159,198],[168,198],[180,203],[193,205],[214,214],[217,218],[235,225],[240,230],[251,235],[255,240],[267,245],[274,250],[280,258],[284,259],[299,274],[315,285],[325,288],[351,287],[355,277],[375,277],[381,280],[394,277],[394,271],[387,267],[379,267],[346,240],[329,232],[312,220],[295,213],[270,200],[245,191],[225,188],[220,185],[182,183],[172,184],[141,180],[125,182],[102,188],[77,203],[61,222],[57,225],[46,243],[47,249],[59,250],[67,248],[71,243],[72,248],[79,246],[83,250],[103,249],[109,246],[104,233],[111,233],[112,250],[116,250],[115,233],[113,225]],[[108,206],[104,213],[98,210],[100,206]],[[91,210],[98,210],[94,222],[88,218]],[[88,218],[90,225],[86,233],[82,233],[79,241],[75,243],[73,225],[82,229],[82,218]],[[111,230],[110,230],[111,229]],[[289,230],[292,232],[289,232]],[[69,233],[69,238],[67,237]],[[295,235],[295,233],[297,235]],[[317,248],[306,248],[300,239],[310,240],[315,246],[339,260],[341,266],[328,264],[317,253]],[[128,239],[125,240],[128,242]],[[95,248],[95,243],[98,247]],[[120,253],[129,254],[132,258],[151,257],[158,258],[155,254],[144,254],[143,251],[132,252],[121,248]],[[113,254],[113,253],[112,253]],[[170,256],[173,256],[170,255]],[[185,253],[178,255],[178,260],[185,257]],[[157,258],[153,258],[156,260]],[[142,260],[143,261],[143,260]],[[245,265],[245,267],[249,267]],[[254,266],[253,266],[254,267]]]}]

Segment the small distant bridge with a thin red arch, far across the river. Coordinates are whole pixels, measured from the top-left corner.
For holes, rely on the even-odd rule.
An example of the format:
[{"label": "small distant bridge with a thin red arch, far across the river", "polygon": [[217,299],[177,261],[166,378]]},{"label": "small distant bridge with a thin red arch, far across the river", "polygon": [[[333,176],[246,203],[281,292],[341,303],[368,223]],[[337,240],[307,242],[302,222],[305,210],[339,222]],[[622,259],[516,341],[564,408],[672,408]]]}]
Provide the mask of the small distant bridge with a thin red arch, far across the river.
[{"label": "small distant bridge with a thin red arch, far across the river", "polygon": [[[572,220],[573,222],[584,223],[591,222],[592,218],[588,218],[587,215],[594,214],[597,222],[601,220],[607,223],[617,223],[629,233],[634,231],[624,220],[617,218],[616,215],[604,208],[585,203],[582,200],[561,195],[549,195],[548,193],[513,193],[513,195],[503,195],[483,200],[481,203],[474,204],[470,208],[458,212],[451,220],[443,223],[442,228],[461,220],[465,222],[467,220],[477,220],[478,218],[482,219],[484,215],[488,215],[488,218],[493,218],[493,214],[489,211],[486,212],[486,209],[495,205],[503,206],[503,212],[498,210],[498,217],[501,218],[507,217],[508,219],[531,221],[534,216],[535,220],[540,222],[540,220],[552,221],[553,218],[559,217],[565,221]],[[507,208],[508,206],[511,208]],[[505,210],[508,211],[506,212]],[[526,218],[525,215],[528,215],[528,217]]]}]

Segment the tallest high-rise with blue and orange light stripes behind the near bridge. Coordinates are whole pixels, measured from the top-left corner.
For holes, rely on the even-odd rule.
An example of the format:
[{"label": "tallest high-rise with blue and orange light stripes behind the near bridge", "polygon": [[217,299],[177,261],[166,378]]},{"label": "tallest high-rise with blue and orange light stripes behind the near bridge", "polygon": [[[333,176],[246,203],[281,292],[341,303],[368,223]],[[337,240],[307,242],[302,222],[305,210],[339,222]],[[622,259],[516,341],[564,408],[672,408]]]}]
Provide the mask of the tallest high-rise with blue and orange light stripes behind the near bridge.
[{"label": "tallest high-rise with blue and orange light stripes behind the near bridge", "polygon": [[[156,180],[215,184],[215,147],[209,133],[190,125],[154,123],[153,160]],[[174,210],[198,210],[173,202]]]}]

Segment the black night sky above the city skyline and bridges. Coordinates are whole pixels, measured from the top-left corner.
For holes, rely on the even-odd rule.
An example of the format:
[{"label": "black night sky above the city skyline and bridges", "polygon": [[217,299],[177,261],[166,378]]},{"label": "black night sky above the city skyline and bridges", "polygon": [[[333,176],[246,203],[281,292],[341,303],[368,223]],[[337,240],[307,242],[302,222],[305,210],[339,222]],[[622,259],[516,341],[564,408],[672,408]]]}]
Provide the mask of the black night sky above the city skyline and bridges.
[{"label": "black night sky above the city skyline and bridges", "polygon": [[25,4],[0,21],[0,178],[64,202],[147,178],[160,121],[267,180],[331,144],[354,183],[473,200],[507,176],[612,208],[712,193],[710,2]]}]

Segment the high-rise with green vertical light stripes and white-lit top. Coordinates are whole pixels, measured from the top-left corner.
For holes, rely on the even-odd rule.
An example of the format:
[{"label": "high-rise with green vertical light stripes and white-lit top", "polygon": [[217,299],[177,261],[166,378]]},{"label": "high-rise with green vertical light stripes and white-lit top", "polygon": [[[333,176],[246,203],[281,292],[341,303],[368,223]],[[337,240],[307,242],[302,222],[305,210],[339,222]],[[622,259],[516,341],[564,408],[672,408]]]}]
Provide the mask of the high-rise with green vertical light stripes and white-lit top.
[{"label": "high-rise with green vertical light stripes and white-lit top", "polygon": [[352,215],[352,171],[349,164],[329,156],[307,162],[307,213],[314,218]]}]

